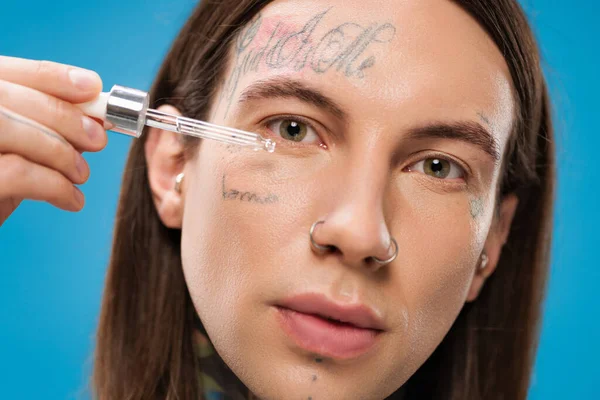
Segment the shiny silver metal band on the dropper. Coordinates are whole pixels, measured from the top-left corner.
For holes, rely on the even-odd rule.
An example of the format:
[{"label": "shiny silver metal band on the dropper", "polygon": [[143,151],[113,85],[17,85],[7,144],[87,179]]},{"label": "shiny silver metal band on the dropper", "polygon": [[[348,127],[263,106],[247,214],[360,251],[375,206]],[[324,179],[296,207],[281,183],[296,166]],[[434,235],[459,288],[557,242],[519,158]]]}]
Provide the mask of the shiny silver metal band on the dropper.
[{"label": "shiny silver metal band on the dropper", "polygon": [[149,95],[137,89],[114,85],[108,96],[106,120],[115,132],[139,138],[146,124]]}]

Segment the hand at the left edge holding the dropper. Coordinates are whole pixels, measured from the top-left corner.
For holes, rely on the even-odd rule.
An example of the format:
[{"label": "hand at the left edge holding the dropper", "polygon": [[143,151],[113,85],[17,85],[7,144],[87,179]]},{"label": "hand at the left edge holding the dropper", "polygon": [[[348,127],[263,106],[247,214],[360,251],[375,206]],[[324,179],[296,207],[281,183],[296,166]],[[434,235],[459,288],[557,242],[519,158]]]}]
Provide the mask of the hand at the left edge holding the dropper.
[{"label": "hand at the left edge holding the dropper", "polygon": [[103,149],[107,137],[74,104],[101,90],[95,72],[0,56],[0,226],[24,199],[83,208],[75,185],[90,171],[81,154]]}]

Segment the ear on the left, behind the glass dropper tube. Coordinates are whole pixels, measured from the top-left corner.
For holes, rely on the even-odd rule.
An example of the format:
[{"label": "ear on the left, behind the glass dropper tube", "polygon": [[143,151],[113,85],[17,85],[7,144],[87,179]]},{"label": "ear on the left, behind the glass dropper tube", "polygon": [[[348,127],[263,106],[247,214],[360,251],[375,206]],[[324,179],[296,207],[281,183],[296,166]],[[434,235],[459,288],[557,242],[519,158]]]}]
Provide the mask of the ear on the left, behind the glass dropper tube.
[{"label": "ear on the left, behind the glass dropper tube", "polygon": [[[158,109],[181,115],[173,106],[163,105]],[[166,227],[181,229],[184,190],[183,187],[181,193],[175,190],[175,178],[183,172],[184,167],[181,137],[177,133],[158,128],[150,128],[146,135],[144,152],[154,206]]]}]

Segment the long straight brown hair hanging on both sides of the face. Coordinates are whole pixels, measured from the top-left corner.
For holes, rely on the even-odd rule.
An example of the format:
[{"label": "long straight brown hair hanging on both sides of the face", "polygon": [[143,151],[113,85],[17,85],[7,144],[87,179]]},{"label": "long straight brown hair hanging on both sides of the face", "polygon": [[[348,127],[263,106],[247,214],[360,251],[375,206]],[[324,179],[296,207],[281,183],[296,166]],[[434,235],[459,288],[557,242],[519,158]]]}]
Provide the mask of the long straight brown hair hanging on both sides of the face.
[{"label": "long straight brown hair hanging on both sides of the face", "polygon": [[[519,206],[496,272],[402,392],[409,399],[525,399],[551,241],[555,178],[549,100],[537,46],[517,2],[455,2],[488,32],[512,75],[518,111],[498,198],[515,193]],[[156,77],[153,106],[169,103],[187,116],[207,118],[236,34],[268,3],[202,1]],[[144,138],[133,142],[123,178],[97,334],[94,393],[103,400],[195,400],[201,396],[192,343],[197,316],[181,267],[181,233],[166,228],[154,208]]]}]

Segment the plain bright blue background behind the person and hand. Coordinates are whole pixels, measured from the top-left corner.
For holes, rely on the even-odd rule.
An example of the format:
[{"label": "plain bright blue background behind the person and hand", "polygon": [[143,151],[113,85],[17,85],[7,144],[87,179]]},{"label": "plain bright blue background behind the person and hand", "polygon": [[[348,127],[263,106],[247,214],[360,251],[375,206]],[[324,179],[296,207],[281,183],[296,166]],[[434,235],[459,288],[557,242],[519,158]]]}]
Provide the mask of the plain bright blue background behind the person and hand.
[{"label": "plain bright blue background behind the person and hand", "polygon": [[[530,398],[597,399],[600,350],[600,6],[524,0],[556,108],[559,193],[549,294]],[[568,4],[567,4],[568,3]],[[3,0],[0,54],[97,71],[149,88],[192,0]],[[87,398],[93,335],[130,140],[88,154],[87,204],[25,202],[0,228],[0,397]]]}]

